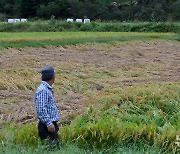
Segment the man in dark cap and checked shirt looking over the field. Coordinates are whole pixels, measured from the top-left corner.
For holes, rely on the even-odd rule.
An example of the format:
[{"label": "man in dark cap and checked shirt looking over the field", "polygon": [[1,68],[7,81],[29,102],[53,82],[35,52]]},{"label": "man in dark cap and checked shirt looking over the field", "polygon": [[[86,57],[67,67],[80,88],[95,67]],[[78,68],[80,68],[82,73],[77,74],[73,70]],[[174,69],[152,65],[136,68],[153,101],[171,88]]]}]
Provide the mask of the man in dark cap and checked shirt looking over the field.
[{"label": "man in dark cap and checked shirt looking over the field", "polygon": [[36,116],[39,119],[38,134],[41,140],[49,139],[53,143],[59,143],[57,122],[60,120],[60,114],[52,91],[56,72],[53,67],[46,66],[41,74],[42,82],[35,93]]}]

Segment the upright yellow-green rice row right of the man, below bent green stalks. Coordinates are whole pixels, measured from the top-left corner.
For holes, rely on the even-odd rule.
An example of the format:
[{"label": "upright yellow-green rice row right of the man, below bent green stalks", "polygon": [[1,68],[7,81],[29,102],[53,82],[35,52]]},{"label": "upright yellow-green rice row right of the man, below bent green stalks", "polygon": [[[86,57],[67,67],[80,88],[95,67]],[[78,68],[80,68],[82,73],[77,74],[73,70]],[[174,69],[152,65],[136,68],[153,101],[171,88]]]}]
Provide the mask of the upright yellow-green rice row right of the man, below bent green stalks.
[{"label": "upright yellow-green rice row right of the man, below bent green stalks", "polygon": [[[63,131],[64,129],[61,130],[61,133]],[[150,145],[158,144],[161,148],[169,149],[175,142],[176,133],[173,131],[173,135],[159,134],[156,124],[137,125],[132,122],[118,122],[117,119],[108,117],[100,119],[96,123],[87,122],[71,126],[68,132],[71,134],[68,139],[98,147],[111,146],[117,142],[130,144],[146,141]],[[159,136],[162,139],[159,140]],[[166,142],[167,144],[165,144]]]}]

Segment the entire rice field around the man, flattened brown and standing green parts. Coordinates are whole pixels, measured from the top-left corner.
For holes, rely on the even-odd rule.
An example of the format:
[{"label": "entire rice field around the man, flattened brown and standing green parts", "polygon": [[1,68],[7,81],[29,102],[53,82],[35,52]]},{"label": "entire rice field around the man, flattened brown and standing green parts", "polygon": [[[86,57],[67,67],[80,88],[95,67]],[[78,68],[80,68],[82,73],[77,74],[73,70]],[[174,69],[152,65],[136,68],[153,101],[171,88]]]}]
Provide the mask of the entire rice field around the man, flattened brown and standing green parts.
[{"label": "entire rice field around the man, flattened brown and standing green parts", "polygon": [[[179,153],[175,33],[0,33],[0,153],[48,153],[34,92],[57,71],[62,147],[54,153]],[[72,41],[73,40],[73,41]]]}]

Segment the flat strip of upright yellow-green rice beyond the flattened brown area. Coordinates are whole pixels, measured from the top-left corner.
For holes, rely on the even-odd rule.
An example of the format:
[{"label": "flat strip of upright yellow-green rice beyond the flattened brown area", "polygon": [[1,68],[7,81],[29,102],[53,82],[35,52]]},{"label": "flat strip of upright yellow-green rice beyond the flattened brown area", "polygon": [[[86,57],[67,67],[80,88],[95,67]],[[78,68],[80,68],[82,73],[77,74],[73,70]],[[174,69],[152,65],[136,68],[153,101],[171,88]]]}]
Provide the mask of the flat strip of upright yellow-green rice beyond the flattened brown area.
[{"label": "flat strip of upright yellow-green rice beyond the flattened brown area", "polygon": [[[40,26],[38,26],[40,27]],[[42,29],[40,27],[40,29]],[[137,33],[137,32],[22,32],[0,33],[0,47],[44,47],[48,45],[65,46],[84,43],[112,43],[132,40],[177,40],[175,33]],[[177,40],[178,41],[178,40]]]}]

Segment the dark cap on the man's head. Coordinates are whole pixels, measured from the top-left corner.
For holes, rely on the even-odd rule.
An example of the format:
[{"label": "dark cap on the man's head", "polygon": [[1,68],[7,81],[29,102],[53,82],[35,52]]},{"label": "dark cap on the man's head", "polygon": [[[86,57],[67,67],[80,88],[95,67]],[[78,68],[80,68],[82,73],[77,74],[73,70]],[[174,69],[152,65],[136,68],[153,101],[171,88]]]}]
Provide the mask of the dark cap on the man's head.
[{"label": "dark cap on the man's head", "polygon": [[41,71],[42,74],[42,80],[47,81],[51,80],[51,78],[56,74],[56,71],[52,66],[46,66]]}]

